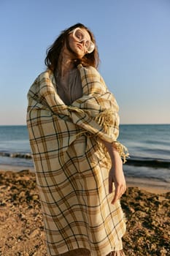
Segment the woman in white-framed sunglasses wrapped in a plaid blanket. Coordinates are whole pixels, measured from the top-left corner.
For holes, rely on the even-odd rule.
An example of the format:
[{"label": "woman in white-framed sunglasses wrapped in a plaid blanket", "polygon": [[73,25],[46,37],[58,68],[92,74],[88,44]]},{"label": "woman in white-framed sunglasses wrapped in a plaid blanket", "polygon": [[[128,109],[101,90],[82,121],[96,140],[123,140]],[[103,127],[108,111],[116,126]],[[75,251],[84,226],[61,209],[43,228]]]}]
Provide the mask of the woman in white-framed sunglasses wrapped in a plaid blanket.
[{"label": "woman in white-framed sunglasses wrapped in a plaid blanket", "polygon": [[62,31],[45,64],[28,91],[27,125],[48,255],[124,255],[125,148],[93,34],[81,23]]}]

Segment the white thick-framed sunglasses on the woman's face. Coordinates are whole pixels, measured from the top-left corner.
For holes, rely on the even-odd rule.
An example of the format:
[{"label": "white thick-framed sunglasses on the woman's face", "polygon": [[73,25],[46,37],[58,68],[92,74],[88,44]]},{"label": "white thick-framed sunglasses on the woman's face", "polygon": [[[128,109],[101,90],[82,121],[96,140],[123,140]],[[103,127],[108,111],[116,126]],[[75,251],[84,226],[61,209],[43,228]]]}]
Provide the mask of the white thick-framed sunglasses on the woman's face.
[{"label": "white thick-framed sunglasses on the woman's face", "polygon": [[93,44],[93,42],[90,39],[85,38],[85,33],[84,33],[84,31],[82,31],[82,29],[80,29],[80,28],[73,29],[72,31],[69,32],[69,34],[72,34],[72,36],[74,37],[74,39],[77,42],[84,41],[85,42],[84,46],[88,53],[93,52],[95,45]]}]

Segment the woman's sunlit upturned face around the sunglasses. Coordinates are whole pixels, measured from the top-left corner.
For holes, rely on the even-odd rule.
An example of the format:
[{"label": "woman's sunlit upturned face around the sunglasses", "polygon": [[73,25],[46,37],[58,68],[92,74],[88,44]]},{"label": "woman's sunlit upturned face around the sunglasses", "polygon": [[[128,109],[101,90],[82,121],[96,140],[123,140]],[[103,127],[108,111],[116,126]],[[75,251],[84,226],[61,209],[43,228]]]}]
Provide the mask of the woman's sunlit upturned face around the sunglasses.
[{"label": "woman's sunlit upturned face around the sunglasses", "polygon": [[[84,39],[79,39],[79,37],[82,37]],[[86,53],[88,53],[87,50],[87,43],[91,42],[90,34],[86,29],[80,29],[77,31],[77,37],[75,37],[75,34],[71,32],[69,34],[69,47],[72,49],[74,53],[78,56],[78,58],[82,59],[83,56],[85,56]]]}]

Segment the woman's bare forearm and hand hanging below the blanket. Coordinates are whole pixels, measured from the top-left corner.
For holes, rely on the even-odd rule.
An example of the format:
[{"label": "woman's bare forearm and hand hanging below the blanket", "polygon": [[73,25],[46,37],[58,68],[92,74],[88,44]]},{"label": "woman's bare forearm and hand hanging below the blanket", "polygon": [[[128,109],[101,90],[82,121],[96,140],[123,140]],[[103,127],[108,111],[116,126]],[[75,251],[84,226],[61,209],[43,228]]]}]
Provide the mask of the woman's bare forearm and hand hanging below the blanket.
[{"label": "woman's bare forearm and hand hanging below the blanket", "polygon": [[107,147],[109,156],[112,160],[112,167],[109,170],[109,193],[112,193],[112,184],[114,183],[115,195],[112,199],[112,204],[114,204],[117,199],[120,199],[126,189],[125,176],[123,173],[123,162],[119,153],[116,151],[114,144],[107,143],[104,140],[103,143]]}]

